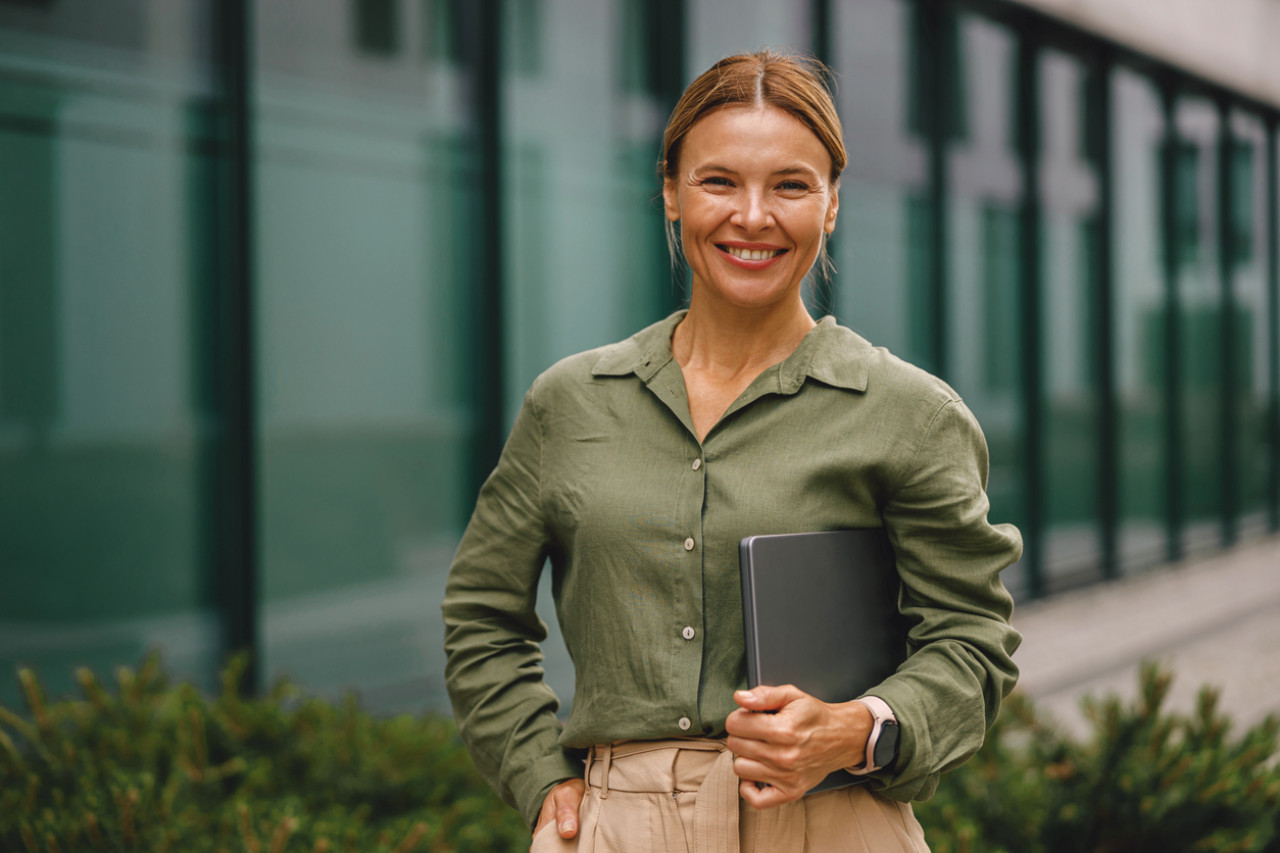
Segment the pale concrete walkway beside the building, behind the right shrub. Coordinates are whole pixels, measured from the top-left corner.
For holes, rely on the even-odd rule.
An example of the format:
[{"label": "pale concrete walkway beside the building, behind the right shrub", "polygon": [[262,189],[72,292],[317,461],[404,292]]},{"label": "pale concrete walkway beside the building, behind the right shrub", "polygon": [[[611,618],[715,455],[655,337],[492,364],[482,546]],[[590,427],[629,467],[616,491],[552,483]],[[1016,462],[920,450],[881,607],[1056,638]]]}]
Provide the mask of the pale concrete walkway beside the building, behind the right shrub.
[{"label": "pale concrete walkway beside the building, behind the right shrub", "polygon": [[1171,667],[1171,707],[1212,684],[1238,726],[1280,715],[1280,537],[1023,605],[1014,625],[1019,689],[1074,731],[1082,697],[1132,699],[1147,660]]}]

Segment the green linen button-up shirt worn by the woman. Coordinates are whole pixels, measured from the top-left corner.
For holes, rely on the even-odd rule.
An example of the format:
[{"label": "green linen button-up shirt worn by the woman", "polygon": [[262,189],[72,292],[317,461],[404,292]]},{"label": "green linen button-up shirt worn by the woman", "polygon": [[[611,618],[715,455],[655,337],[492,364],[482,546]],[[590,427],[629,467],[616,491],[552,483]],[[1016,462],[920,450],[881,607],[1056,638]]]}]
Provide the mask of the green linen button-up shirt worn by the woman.
[{"label": "green linen button-up shirt worn by the woman", "polygon": [[[987,444],[940,379],[823,318],[699,442],[671,352],[676,313],[559,361],[529,389],[444,597],[445,681],[481,774],[532,824],[581,753],[722,736],[745,686],[742,537],[887,529],[910,631],[868,690],[901,725],[882,795],[933,794],[982,745],[1018,669],[998,573],[1021,538],[987,521]],[[552,567],[573,660],[562,724],[534,610]]]}]

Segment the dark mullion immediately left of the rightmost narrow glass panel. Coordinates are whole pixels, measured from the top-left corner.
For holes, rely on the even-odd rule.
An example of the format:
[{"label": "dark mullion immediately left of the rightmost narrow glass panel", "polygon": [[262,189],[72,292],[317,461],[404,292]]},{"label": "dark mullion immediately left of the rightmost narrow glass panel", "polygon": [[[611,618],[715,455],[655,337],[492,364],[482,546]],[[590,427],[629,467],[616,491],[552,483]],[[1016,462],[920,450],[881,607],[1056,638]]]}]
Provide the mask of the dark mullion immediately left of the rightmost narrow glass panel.
[{"label": "dark mullion immediately left of the rightmost narrow glass panel", "polygon": [[1234,134],[1231,133],[1231,102],[1225,95],[1217,97],[1217,259],[1219,286],[1221,295],[1221,336],[1220,357],[1222,359],[1222,396],[1220,418],[1222,442],[1219,465],[1222,469],[1222,544],[1230,546],[1236,538],[1238,483],[1236,476],[1236,406],[1239,401],[1239,369],[1236,366],[1235,346],[1235,241],[1233,240],[1233,188],[1231,159],[1234,155]]}]

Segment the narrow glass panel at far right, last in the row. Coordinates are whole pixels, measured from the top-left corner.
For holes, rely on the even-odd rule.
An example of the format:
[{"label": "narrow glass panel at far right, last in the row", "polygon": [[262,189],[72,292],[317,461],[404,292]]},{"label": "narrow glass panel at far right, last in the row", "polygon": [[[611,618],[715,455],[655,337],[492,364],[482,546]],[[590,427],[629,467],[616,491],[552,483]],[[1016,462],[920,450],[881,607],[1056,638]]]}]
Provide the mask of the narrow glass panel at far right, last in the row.
[{"label": "narrow glass panel at far right, last in the row", "polygon": [[1267,482],[1272,448],[1267,430],[1271,339],[1267,323],[1266,132],[1244,113],[1231,117],[1231,286],[1236,383],[1236,511],[1240,535],[1267,529]]}]

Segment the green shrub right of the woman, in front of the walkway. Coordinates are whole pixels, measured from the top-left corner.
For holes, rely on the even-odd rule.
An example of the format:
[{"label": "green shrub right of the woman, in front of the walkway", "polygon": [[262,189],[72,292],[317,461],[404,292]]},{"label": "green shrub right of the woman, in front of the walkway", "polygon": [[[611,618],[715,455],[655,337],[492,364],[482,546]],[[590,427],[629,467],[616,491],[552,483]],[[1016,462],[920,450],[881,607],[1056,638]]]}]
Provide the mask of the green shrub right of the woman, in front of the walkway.
[{"label": "green shrub right of the woman, in front of the walkway", "polygon": [[1199,692],[1146,666],[1139,697],[1085,701],[1092,734],[1062,735],[1019,697],[987,744],[916,807],[934,853],[1280,853],[1280,722],[1239,736]]}]

